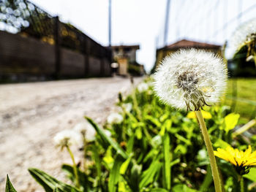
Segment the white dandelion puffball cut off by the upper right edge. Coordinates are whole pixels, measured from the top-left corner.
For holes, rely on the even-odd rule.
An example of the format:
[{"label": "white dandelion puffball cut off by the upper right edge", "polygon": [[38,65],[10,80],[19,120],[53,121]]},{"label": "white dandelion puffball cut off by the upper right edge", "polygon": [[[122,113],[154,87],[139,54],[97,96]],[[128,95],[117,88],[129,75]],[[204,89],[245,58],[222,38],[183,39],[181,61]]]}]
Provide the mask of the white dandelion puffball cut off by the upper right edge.
[{"label": "white dandelion puffball cut off by the upper right edge", "polygon": [[256,18],[243,23],[236,28],[232,37],[228,41],[228,49],[232,53],[240,50],[241,47],[256,39]]}]

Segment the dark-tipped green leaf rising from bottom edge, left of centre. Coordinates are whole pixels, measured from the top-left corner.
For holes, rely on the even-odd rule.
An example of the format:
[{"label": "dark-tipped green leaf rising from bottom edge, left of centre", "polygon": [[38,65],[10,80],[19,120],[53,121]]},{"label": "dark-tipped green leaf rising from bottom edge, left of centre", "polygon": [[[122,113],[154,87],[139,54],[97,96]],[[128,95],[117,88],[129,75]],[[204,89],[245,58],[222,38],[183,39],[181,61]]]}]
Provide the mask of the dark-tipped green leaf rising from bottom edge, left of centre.
[{"label": "dark-tipped green leaf rising from bottom edge, left of centre", "polygon": [[108,182],[108,191],[110,192],[116,192],[116,187],[120,177],[120,167],[123,161],[124,158],[118,154],[115,158],[113,169],[110,170],[110,177]]}]

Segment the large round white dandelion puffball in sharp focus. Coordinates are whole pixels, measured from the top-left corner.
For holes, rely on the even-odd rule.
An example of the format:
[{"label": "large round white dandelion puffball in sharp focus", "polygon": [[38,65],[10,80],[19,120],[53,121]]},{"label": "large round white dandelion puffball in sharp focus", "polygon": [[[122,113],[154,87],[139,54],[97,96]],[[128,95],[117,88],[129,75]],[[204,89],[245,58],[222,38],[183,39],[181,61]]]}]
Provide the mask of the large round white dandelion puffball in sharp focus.
[{"label": "large round white dandelion puffball in sharp focus", "polygon": [[178,109],[199,110],[224,93],[227,69],[222,59],[203,50],[179,50],[168,55],[154,74],[159,99]]}]

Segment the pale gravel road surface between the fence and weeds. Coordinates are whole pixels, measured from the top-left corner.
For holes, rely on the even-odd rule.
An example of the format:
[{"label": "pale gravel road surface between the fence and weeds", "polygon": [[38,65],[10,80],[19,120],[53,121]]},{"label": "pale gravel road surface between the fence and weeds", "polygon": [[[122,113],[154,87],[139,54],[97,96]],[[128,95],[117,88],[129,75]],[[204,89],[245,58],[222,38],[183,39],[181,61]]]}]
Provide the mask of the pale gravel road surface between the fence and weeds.
[{"label": "pale gravel road surface between the fence and weeds", "polygon": [[60,167],[71,161],[54,147],[54,135],[83,122],[84,115],[103,123],[118,92],[129,89],[129,79],[121,77],[0,85],[0,191],[6,174],[18,192],[43,191],[29,167],[66,180]]}]

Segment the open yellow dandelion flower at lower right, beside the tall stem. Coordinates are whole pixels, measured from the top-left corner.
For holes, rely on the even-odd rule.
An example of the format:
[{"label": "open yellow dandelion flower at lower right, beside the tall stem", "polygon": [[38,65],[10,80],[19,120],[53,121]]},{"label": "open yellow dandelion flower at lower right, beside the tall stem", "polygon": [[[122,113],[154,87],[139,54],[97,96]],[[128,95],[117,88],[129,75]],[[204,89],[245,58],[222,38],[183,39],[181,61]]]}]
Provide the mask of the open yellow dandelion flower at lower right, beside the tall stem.
[{"label": "open yellow dandelion flower at lower right, beside the tall stem", "polygon": [[256,166],[256,151],[252,153],[251,145],[245,151],[233,147],[225,150],[218,148],[217,151],[214,150],[214,155],[235,165],[238,174],[247,174],[251,166]]}]

